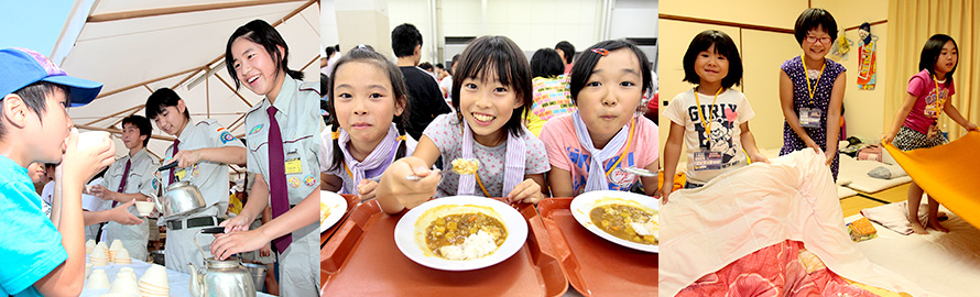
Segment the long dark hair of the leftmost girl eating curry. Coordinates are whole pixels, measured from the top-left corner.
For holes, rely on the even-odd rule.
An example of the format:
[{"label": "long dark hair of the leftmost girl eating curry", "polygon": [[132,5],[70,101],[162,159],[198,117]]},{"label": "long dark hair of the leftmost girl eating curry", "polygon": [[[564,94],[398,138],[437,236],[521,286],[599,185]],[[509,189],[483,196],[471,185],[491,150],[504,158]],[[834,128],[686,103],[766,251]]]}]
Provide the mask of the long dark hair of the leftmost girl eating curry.
[{"label": "long dark hair of the leftmost girl eating curry", "polygon": [[[388,77],[391,79],[391,88],[394,94],[395,106],[403,106],[404,111],[401,116],[395,116],[392,119],[394,122],[395,129],[399,131],[399,136],[405,136],[405,127],[409,125],[409,87],[405,86],[405,78],[402,76],[402,70],[399,69],[398,66],[392,64],[390,61],[384,58],[379,53],[373,51],[355,47],[350,52],[347,52],[347,55],[340,57],[337,61],[337,66],[334,66],[334,70],[330,73],[331,79],[327,82],[327,97],[329,105],[327,105],[327,111],[330,112],[330,132],[331,134],[337,134],[340,132],[340,121],[337,120],[337,110],[334,107],[334,82],[337,81],[337,70],[344,67],[345,64],[351,62],[360,62],[374,65],[381,72],[388,73]],[[340,151],[340,141],[334,138],[334,155],[330,163],[330,170],[339,170],[340,167],[344,166],[344,152]],[[394,158],[401,158],[405,156],[405,141],[402,141],[399,144],[398,152],[395,152]],[[360,180],[355,180],[360,182]]]}]

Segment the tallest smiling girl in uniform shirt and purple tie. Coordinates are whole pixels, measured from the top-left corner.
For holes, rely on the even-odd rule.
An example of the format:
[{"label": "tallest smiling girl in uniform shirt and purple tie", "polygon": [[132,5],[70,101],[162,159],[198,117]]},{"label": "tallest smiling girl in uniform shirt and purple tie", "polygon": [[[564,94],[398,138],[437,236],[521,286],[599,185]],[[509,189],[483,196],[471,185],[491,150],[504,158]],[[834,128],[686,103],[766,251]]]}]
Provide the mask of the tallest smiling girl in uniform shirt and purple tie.
[{"label": "tallest smiling girl in uniform shirt and purple tie", "polygon": [[[225,47],[225,65],[236,88],[263,97],[246,113],[248,170],[255,183],[241,212],[220,223],[225,232],[211,244],[216,258],[260,250],[279,253],[280,294],[319,293],[318,230],[320,143],[319,81],[302,81],[288,68],[290,47],[262,20],[239,26]],[[221,142],[237,141],[228,138]],[[254,230],[252,221],[272,208],[272,220]],[[272,243],[270,246],[270,242]]]}]

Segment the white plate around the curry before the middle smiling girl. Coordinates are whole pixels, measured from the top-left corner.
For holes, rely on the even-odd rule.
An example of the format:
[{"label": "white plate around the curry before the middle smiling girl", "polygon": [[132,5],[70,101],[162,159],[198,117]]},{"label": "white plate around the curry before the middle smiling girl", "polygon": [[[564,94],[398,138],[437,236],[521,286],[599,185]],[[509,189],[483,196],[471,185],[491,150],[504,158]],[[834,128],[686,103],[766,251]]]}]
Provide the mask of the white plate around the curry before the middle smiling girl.
[{"label": "white plate around the curry before the middle smiling girl", "polygon": [[[508,233],[507,240],[493,253],[476,260],[454,261],[425,255],[425,251],[422,250],[425,243],[415,243],[415,221],[426,210],[444,205],[472,205],[492,208],[503,219],[502,223]],[[494,265],[520,251],[521,246],[524,246],[525,240],[527,240],[527,221],[524,220],[521,212],[504,202],[475,196],[453,196],[427,201],[402,216],[394,228],[394,242],[402,254],[423,266],[443,271],[472,271]]]}]

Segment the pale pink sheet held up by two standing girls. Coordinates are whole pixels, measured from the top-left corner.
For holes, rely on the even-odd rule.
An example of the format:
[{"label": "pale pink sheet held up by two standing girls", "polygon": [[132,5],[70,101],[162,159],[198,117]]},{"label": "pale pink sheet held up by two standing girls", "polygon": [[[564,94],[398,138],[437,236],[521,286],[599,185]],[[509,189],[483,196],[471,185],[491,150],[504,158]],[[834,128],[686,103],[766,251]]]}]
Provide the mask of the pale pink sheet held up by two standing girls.
[{"label": "pale pink sheet held up by two standing girls", "polygon": [[872,264],[851,242],[823,154],[802,150],[771,161],[726,173],[699,189],[678,190],[661,207],[661,296],[674,296],[701,277],[786,240],[803,242],[827,268],[847,279],[929,296]]}]

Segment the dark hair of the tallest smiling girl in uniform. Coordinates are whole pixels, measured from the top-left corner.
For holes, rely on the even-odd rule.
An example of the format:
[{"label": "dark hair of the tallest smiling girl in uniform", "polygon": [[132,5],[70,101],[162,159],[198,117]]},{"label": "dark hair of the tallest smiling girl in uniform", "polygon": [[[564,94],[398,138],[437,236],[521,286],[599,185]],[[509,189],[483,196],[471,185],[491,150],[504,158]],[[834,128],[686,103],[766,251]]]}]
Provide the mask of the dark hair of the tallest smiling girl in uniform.
[{"label": "dark hair of the tallest smiling girl in uniform", "polygon": [[[279,31],[275,31],[275,28],[272,28],[272,25],[265,21],[254,20],[235,30],[235,33],[231,33],[231,37],[228,37],[228,45],[225,46],[225,67],[228,69],[228,75],[231,76],[231,80],[235,80],[236,90],[241,88],[241,80],[238,79],[238,72],[235,70],[235,58],[231,57],[231,44],[235,43],[238,37],[262,45],[262,47],[265,48],[265,52],[272,56],[272,62],[275,63],[276,69],[282,70],[293,79],[303,79],[303,73],[291,70],[287,67],[287,65],[290,65],[290,46],[286,45],[286,41],[279,34]],[[276,46],[282,46],[282,53],[279,52]]]}]

